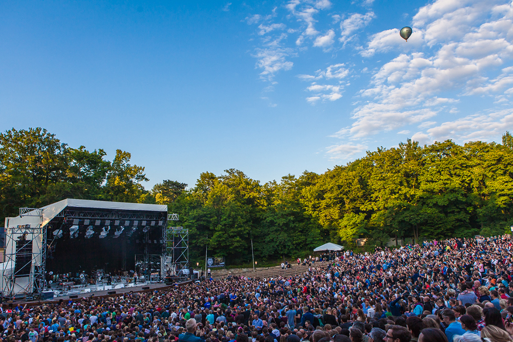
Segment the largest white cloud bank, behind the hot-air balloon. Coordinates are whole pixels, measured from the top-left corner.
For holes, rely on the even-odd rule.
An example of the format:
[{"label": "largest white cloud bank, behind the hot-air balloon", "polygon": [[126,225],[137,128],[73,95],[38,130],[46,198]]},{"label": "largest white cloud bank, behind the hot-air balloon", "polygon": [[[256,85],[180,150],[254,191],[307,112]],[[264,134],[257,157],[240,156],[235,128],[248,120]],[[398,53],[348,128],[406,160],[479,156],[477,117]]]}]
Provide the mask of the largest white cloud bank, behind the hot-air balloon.
[{"label": "largest white cloud bank, behind the hot-air balloon", "polygon": [[[439,113],[458,113],[456,105],[463,102],[462,96],[494,95],[506,105],[501,96],[510,96],[509,89],[513,94],[513,68],[503,68],[500,75],[489,77],[513,59],[513,45],[507,39],[513,32],[513,21],[508,17],[513,18],[513,10],[511,4],[498,8],[499,2],[437,0],[415,15],[408,42],[400,37],[398,29],[374,34],[360,52],[363,56],[387,51],[400,54],[374,73],[370,87],[360,92],[367,102],[353,111],[349,137],[364,137],[410,124],[427,129],[436,125],[427,122],[429,118]],[[435,32],[442,27],[458,33],[436,36]],[[431,49],[423,47],[426,43]],[[455,122],[465,125],[467,121]],[[427,142],[442,136],[436,132],[449,126],[442,124],[414,136]]]}]

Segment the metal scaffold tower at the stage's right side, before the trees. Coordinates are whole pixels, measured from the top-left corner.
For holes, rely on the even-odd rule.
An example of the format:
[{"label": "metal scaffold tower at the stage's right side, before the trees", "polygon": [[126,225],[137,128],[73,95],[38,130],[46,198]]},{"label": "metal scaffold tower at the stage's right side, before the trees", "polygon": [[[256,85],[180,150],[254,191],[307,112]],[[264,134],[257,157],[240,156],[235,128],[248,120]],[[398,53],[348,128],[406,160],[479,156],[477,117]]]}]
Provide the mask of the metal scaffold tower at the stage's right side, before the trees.
[{"label": "metal scaffold tower at the stage's right side, before the trees", "polygon": [[184,227],[166,229],[167,256],[171,257],[172,269],[176,272],[189,266],[189,230]]}]

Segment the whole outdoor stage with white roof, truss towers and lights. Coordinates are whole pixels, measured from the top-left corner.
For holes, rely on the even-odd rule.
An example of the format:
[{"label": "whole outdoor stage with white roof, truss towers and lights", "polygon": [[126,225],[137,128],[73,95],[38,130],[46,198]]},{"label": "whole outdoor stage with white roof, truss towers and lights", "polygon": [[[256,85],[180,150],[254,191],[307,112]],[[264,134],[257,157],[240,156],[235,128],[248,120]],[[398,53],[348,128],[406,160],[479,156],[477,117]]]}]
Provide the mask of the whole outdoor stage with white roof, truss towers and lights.
[{"label": "whole outdoor stage with white roof, truss towers and lights", "polygon": [[178,219],[165,205],[98,200],[20,208],[5,221],[2,297],[133,291],[135,280],[155,286],[166,276],[188,274],[188,230],[168,227]]}]

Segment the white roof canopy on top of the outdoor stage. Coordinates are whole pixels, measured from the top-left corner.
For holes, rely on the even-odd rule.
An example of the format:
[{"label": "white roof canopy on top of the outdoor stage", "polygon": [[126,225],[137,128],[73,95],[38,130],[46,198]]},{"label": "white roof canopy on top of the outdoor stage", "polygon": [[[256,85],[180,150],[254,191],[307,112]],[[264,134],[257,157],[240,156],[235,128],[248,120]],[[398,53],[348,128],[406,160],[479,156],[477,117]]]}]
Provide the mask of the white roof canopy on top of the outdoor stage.
[{"label": "white roof canopy on top of the outdoor stage", "polygon": [[[128,210],[128,211],[158,211],[167,212],[166,205],[144,204],[144,203],[122,203],[122,202],[106,202],[103,200],[90,199],[72,199],[67,198],[59,202],[50,204],[41,208],[43,210],[43,226],[48,224],[52,218],[62,212],[66,207],[71,208],[91,208],[91,209],[108,209],[108,210]],[[35,227],[39,224],[34,212],[29,212],[23,216],[6,218],[6,227],[16,227],[18,225],[30,224]]]}]

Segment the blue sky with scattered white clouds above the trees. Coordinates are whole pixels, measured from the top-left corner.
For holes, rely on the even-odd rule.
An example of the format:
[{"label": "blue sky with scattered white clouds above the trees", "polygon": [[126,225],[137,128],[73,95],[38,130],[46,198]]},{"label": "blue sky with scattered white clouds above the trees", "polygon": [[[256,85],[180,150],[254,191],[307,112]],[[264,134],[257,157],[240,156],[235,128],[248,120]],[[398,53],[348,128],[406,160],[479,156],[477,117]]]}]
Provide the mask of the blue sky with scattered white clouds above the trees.
[{"label": "blue sky with scattered white clouds above the trees", "polygon": [[4,1],[0,129],[129,151],[147,188],[324,172],[407,138],[499,142],[512,38],[503,0]]}]

